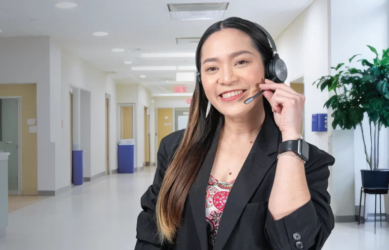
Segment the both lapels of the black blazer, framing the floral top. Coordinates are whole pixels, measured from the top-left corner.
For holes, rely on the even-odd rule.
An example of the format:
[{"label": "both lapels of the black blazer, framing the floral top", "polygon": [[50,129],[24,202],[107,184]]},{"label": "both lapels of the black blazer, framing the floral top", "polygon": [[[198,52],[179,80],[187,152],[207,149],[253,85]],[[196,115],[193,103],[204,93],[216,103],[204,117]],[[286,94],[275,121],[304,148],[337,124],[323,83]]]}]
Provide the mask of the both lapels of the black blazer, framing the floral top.
[{"label": "both lapels of the black blazer, framing the floral top", "polygon": [[[234,186],[230,190],[220,221],[214,250],[221,250],[224,247],[247,202],[261,184],[268,170],[277,161],[278,144],[281,142],[281,136],[275,121],[270,115],[272,114],[266,112],[262,129],[258,133]],[[205,222],[205,196],[208,179],[219,143],[220,130],[221,124],[215,133],[210,150],[200,168],[197,181],[189,191],[190,206],[202,250],[208,249]]]}]

